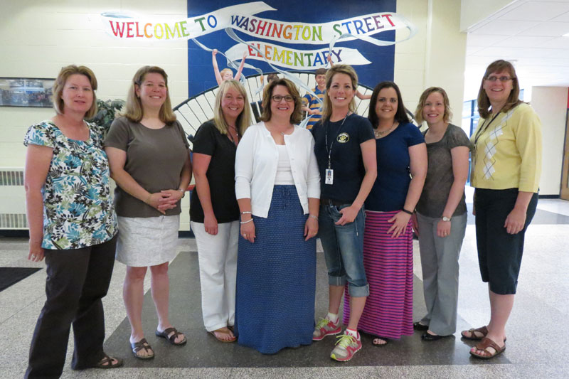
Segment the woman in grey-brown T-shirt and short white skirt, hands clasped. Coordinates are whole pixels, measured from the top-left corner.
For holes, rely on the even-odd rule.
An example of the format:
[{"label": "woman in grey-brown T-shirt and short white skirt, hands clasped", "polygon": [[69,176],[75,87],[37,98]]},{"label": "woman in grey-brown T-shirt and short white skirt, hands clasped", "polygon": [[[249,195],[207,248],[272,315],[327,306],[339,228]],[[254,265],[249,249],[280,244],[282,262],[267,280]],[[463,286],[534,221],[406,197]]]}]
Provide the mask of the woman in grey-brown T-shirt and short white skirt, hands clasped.
[{"label": "woman in grey-brown T-shirt and short white skirt, hands clasped", "polygon": [[176,255],[180,199],[191,180],[184,130],[172,112],[168,76],[144,66],[132,79],[123,117],[111,125],[105,151],[117,182],[119,219],[117,260],[127,265],[123,299],[135,358],[154,357],[142,330],[144,276],[150,267],[151,292],[158,313],[156,336],[186,343],[168,317],[168,264]]}]

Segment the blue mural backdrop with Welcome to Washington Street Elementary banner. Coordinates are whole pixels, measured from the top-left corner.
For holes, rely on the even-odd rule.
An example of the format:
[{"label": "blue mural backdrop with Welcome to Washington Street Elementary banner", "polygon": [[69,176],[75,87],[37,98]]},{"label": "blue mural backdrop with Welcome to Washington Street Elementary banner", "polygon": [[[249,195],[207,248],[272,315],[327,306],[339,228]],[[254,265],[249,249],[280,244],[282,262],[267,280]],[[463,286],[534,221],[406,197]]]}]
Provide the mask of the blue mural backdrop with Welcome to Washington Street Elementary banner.
[{"label": "blue mural backdrop with Welcome to Washington Street Elementary banner", "polygon": [[[353,65],[368,86],[393,80],[395,43],[416,29],[395,12],[395,0],[353,1],[188,0],[188,18],[157,19],[103,14],[108,33],[132,41],[188,40],[188,96],[217,82],[211,50],[244,75],[314,71],[334,63]],[[395,41],[395,31],[406,29]],[[219,57],[220,58],[220,57]],[[221,59],[220,59],[221,61]],[[220,69],[223,64],[220,64]]]}]

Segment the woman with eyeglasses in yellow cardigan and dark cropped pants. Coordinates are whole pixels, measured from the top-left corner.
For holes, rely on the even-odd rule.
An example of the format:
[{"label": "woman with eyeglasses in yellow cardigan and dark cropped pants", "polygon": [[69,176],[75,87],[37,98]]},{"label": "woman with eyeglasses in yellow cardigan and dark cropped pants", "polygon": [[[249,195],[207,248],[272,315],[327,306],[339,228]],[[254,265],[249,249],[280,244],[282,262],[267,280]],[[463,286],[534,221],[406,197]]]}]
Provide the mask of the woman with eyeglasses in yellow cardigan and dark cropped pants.
[{"label": "woman with eyeglasses in yellow cardigan and dark cropped pants", "polygon": [[523,238],[538,201],[541,122],[519,100],[519,91],[514,66],[506,60],[491,63],[480,84],[481,118],[471,139],[478,262],[488,283],[491,316],[488,325],[462,331],[462,336],[481,340],[470,353],[482,359],[506,349]]}]

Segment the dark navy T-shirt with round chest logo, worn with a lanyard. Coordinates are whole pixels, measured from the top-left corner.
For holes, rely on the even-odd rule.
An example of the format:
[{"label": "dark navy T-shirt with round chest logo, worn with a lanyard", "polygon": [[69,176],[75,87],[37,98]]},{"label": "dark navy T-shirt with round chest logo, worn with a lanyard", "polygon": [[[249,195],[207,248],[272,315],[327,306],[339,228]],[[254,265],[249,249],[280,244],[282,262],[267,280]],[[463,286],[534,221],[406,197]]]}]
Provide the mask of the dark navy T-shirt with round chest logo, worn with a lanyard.
[{"label": "dark navy T-shirt with round chest logo, worn with a lanyard", "polygon": [[[366,175],[360,144],[375,138],[371,123],[364,117],[351,114],[345,120],[341,119],[337,122],[325,121],[323,123],[320,120],[310,131],[314,136],[314,153],[320,171],[320,198],[352,203],[358,196],[361,181]],[[328,134],[327,148],[326,132]],[[334,183],[326,184],[330,145]]]}]

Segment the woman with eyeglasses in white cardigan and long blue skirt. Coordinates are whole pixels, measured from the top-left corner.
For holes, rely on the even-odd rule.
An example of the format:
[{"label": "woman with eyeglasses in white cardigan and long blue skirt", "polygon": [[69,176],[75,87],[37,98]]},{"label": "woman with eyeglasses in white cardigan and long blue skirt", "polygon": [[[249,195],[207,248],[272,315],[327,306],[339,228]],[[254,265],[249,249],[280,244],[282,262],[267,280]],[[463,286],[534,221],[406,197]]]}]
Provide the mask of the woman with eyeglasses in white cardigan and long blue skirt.
[{"label": "woman with eyeglasses in white cardigan and long blue skirt", "polygon": [[312,134],[296,125],[301,107],[292,82],[271,82],[262,122],[247,129],[235,156],[235,333],[265,354],[312,343],[320,175]]}]

